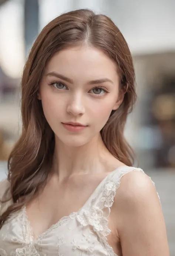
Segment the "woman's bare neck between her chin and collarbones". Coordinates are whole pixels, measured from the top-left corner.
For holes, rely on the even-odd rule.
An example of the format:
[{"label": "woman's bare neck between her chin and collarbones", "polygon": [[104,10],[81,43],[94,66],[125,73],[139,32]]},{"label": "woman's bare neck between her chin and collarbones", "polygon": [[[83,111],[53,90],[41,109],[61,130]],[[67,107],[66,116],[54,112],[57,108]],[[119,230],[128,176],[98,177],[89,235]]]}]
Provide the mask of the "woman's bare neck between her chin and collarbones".
[{"label": "woman's bare neck between her chin and collarbones", "polygon": [[106,149],[100,134],[80,147],[66,146],[55,139],[53,170],[59,180],[78,174],[103,172],[109,158],[118,161]]}]

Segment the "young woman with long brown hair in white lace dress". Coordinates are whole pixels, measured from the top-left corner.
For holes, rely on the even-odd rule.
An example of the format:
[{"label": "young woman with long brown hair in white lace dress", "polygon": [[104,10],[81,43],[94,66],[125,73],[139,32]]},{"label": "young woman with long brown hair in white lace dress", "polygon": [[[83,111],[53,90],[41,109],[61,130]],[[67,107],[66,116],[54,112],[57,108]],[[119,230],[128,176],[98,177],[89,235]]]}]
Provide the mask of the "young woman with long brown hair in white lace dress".
[{"label": "young woman with long brown hair in white lace dress", "polygon": [[134,78],[109,17],[71,11],[41,31],[21,82],[23,131],[0,184],[1,256],[169,255],[154,184],[132,167],[123,136]]}]

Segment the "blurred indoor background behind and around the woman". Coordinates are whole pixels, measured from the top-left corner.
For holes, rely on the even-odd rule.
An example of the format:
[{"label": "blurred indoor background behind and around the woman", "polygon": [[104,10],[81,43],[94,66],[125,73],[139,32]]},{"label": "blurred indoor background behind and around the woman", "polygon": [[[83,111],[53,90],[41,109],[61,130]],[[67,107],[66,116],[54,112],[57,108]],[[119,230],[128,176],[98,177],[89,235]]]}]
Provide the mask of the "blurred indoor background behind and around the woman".
[{"label": "blurred indoor background behind and around the woman", "polygon": [[76,8],[110,16],[130,46],[138,101],[125,134],[137,165],[155,182],[175,256],[175,0],[0,0],[0,180],[21,132],[28,51],[49,21]]}]

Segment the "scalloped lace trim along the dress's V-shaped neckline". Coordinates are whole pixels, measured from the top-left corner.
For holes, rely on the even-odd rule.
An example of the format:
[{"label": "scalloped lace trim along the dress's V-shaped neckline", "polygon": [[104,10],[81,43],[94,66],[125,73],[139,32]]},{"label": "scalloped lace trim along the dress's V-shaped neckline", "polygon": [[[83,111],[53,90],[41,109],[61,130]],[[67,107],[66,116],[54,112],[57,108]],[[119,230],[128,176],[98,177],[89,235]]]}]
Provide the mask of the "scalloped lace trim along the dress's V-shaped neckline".
[{"label": "scalloped lace trim along the dress's V-shaped neckline", "polygon": [[115,170],[111,171],[110,173],[108,173],[103,179],[102,181],[100,181],[100,183],[97,185],[97,187],[95,188],[95,190],[93,190],[92,194],[90,195],[90,197],[86,200],[85,204],[83,204],[83,206],[81,208],[78,209],[78,211],[76,212],[71,212],[69,215],[65,215],[62,216],[61,219],[59,219],[55,224],[52,224],[48,229],[46,229],[44,232],[42,232],[40,235],[38,235],[36,238],[34,238],[33,234],[34,234],[34,229],[31,226],[31,223],[28,219],[27,216],[27,211],[26,211],[26,205],[23,206],[22,212],[23,212],[23,217],[24,217],[24,221],[27,225],[27,232],[28,232],[28,236],[30,236],[30,240],[32,240],[32,242],[37,242],[38,240],[40,240],[41,238],[43,238],[45,235],[47,235],[48,233],[50,233],[53,229],[55,229],[55,227],[61,225],[61,222],[65,219],[70,219],[71,215],[76,216],[83,208],[86,207],[86,205],[89,204],[90,201],[92,201],[93,198],[95,198],[97,191],[99,190],[100,187],[102,187],[106,181],[111,177],[111,175],[117,171],[119,171],[122,168],[128,168],[127,165],[120,165],[119,167],[117,167]]}]

